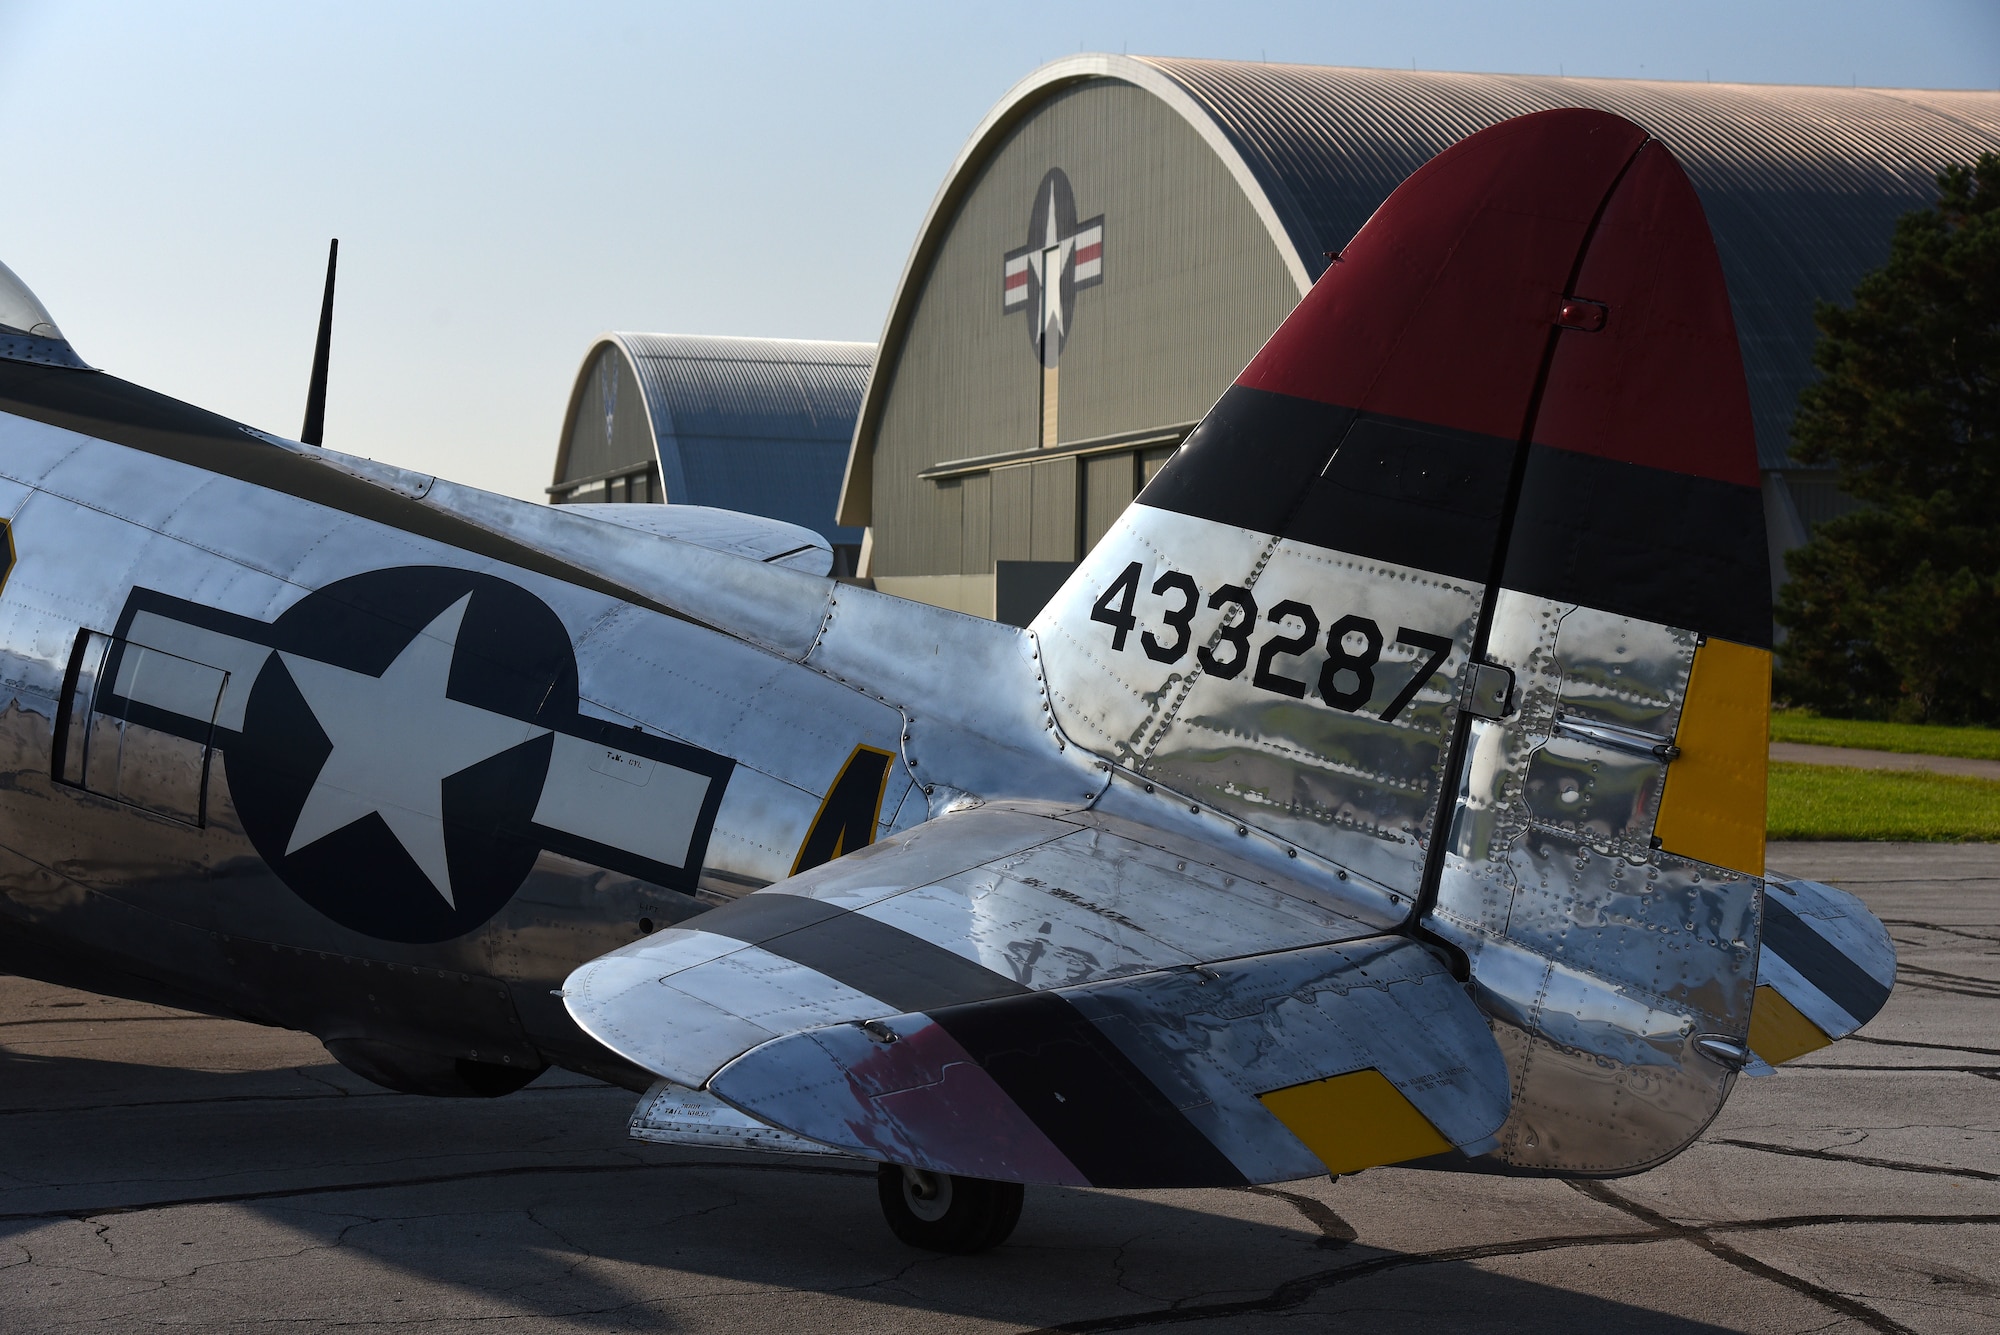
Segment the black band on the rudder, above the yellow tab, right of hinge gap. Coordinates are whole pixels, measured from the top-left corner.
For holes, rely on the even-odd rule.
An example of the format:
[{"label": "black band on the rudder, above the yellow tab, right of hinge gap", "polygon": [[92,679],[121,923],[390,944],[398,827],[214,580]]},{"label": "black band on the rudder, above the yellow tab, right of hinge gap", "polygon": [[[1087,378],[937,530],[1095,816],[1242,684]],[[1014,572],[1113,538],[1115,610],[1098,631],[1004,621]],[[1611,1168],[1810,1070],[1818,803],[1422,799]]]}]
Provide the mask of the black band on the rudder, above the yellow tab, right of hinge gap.
[{"label": "black band on the rudder, above the yellow tab, right of hinge gap", "polygon": [[1770,648],[1756,488],[1530,446],[1500,584]]}]

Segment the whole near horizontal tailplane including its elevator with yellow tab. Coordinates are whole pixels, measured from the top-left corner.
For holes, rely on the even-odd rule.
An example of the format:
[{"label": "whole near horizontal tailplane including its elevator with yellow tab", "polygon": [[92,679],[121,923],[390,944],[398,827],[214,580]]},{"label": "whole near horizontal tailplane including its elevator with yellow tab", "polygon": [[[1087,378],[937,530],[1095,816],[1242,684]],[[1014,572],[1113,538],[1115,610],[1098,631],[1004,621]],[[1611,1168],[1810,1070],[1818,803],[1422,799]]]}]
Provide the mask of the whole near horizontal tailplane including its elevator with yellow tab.
[{"label": "whole near horizontal tailplane including its elevator with yellow tab", "polygon": [[966,1177],[1284,1181],[1480,1153],[1508,1115],[1488,1023],[1430,949],[1088,811],[944,815],[564,991],[678,1085]]}]

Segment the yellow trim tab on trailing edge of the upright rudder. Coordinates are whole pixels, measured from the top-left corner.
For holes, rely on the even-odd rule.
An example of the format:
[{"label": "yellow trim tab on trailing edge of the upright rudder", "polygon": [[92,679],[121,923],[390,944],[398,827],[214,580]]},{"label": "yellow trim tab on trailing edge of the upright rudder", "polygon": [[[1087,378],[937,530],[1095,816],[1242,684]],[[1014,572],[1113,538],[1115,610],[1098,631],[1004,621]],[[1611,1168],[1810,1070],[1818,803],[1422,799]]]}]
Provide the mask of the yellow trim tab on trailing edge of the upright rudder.
[{"label": "yellow trim tab on trailing edge of the upright rudder", "polygon": [[1666,767],[1660,847],[1764,875],[1764,767],[1770,761],[1770,650],[1710,640],[1694,652]]}]

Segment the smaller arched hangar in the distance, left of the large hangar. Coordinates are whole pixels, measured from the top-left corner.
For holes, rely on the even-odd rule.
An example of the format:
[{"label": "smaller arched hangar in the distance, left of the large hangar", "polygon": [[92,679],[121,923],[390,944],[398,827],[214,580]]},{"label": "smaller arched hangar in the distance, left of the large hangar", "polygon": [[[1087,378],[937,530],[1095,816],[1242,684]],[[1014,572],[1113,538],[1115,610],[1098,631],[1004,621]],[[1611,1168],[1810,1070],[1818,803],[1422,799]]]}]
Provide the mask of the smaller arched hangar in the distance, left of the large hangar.
[{"label": "smaller arched hangar in the distance, left of the large hangar", "polygon": [[674,502],[786,520],[830,544],[874,344],[604,334],[562,418],[550,500]]}]

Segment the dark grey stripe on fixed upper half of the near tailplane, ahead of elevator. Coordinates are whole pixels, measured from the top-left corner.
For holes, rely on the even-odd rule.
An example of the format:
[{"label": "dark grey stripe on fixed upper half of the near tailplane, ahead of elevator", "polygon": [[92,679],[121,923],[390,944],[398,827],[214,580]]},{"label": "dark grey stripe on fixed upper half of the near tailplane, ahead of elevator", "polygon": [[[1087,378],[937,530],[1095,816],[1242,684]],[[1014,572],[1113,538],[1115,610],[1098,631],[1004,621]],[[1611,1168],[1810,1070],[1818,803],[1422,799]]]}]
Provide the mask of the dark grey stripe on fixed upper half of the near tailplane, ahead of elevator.
[{"label": "dark grey stripe on fixed upper half of the near tailplane, ahead of elevator", "polygon": [[688,925],[768,949],[902,1013],[1028,991],[902,927],[804,895],[744,895]]}]

